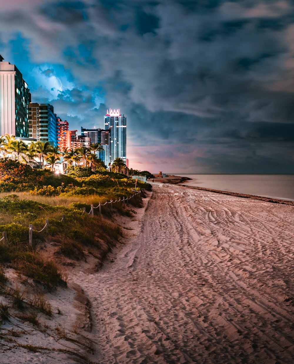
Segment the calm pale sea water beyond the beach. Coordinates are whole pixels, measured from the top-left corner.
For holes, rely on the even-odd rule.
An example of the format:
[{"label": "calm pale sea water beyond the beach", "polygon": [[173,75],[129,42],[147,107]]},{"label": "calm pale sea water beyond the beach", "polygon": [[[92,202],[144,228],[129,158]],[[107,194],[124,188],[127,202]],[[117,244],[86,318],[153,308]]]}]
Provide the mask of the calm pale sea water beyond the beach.
[{"label": "calm pale sea water beyond the beach", "polygon": [[294,174],[182,174],[188,186],[294,201]]}]

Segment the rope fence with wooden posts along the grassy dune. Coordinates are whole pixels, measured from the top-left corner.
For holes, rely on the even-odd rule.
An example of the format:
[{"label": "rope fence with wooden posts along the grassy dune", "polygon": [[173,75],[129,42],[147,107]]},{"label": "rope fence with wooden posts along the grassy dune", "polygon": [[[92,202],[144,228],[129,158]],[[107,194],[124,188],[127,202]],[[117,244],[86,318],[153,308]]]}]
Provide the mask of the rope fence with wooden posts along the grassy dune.
[{"label": "rope fence with wooden posts along the grassy dune", "polygon": [[[132,196],[130,197],[120,197],[120,199],[116,199],[115,201],[113,200],[110,200],[110,201],[106,201],[105,203],[101,203],[99,202],[99,205],[94,207],[93,204],[91,204],[91,209],[90,209],[90,212],[87,213],[88,215],[91,215],[91,217],[94,217],[94,209],[98,209],[99,207],[99,215],[102,216],[102,213],[101,213],[101,206],[104,206],[106,205],[107,203],[110,203],[110,209],[111,209],[111,212],[113,212],[113,207],[112,207],[112,204],[113,203],[116,203],[116,202],[124,202],[124,205],[125,205],[125,201],[128,203],[129,202],[129,199],[133,198],[134,196],[137,196],[140,194],[140,198],[142,199],[142,196],[141,196],[141,191],[136,191],[136,190],[131,190],[133,192],[135,192]],[[86,213],[86,207],[83,208],[83,214]],[[62,214],[62,218],[60,220],[60,222],[64,221],[65,220],[65,215]],[[43,229],[37,231],[37,230],[33,230],[33,224],[29,224],[29,245],[33,245],[33,232],[35,231],[36,233],[42,233],[43,231],[46,231],[48,233],[48,229],[49,229],[49,219],[46,219],[45,220],[45,226],[43,227]],[[4,231],[2,232],[2,238],[0,239],[0,242],[3,241],[4,244],[7,244],[7,232]]]}]

